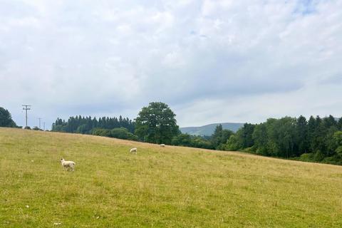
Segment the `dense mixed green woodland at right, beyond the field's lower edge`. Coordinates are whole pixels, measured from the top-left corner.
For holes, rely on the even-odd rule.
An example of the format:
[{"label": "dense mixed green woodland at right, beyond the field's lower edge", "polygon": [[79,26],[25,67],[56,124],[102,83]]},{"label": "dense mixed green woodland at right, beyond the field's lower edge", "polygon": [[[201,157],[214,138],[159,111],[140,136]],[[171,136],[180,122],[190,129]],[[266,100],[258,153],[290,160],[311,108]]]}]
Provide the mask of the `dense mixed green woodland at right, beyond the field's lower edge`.
[{"label": "dense mixed green woodland at right, beyond the field's lower edge", "polygon": [[[245,124],[225,143],[225,150],[244,150],[274,157],[342,164],[340,122],[329,115],[268,119],[259,125]],[[218,128],[218,132],[219,132]],[[251,138],[252,133],[252,138]],[[214,135],[213,135],[214,136]]]}]

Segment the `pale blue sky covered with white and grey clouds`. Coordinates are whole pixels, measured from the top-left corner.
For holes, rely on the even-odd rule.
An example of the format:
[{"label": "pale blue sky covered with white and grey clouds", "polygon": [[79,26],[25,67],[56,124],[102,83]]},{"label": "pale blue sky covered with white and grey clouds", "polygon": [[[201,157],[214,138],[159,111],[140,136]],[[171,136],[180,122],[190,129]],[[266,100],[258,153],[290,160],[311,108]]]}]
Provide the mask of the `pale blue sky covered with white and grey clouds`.
[{"label": "pale blue sky covered with white and grey clouds", "polygon": [[136,118],[181,127],[342,116],[341,0],[0,0],[0,106],[18,125]]}]

